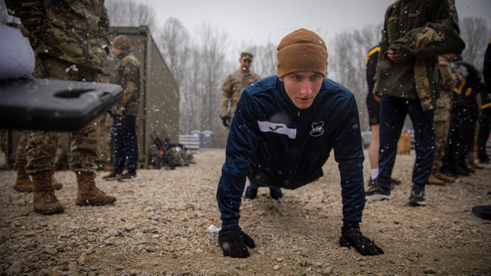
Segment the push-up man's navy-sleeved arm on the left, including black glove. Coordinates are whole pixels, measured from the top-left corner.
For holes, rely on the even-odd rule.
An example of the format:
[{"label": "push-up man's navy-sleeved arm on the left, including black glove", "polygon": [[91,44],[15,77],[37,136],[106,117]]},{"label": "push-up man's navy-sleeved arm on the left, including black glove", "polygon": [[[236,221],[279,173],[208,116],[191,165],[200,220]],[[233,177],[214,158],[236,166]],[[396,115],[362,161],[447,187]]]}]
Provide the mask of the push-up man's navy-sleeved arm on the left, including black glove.
[{"label": "push-up man's navy-sleeved arm on the left, including black glove", "polygon": [[241,197],[246,185],[251,157],[260,140],[257,119],[253,115],[253,102],[246,93],[237,104],[236,116],[230,126],[230,135],[225,151],[225,164],[218,182],[217,201],[222,220],[218,234],[224,256],[246,258],[246,246],[255,247],[254,241],[239,227]]}]

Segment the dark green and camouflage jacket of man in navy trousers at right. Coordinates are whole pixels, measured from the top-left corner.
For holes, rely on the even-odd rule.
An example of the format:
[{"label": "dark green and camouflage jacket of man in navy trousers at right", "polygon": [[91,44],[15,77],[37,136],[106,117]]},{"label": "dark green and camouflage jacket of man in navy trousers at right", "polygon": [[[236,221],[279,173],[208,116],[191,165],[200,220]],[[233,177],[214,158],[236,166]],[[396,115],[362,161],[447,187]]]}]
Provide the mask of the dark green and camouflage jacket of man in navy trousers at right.
[{"label": "dark green and camouflage jacket of man in navy trousers at right", "polygon": [[[431,102],[439,97],[436,55],[459,52],[465,43],[459,37],[453,0],[398,0],[385,13],[381,54],[374,91],[398,98],[420,100],[414,66],[425,69],[419,83],[426,86]],[[398,50],[409,59],[395,63],[388,50]],[[427,110],[430,111],[430,110]]]}]

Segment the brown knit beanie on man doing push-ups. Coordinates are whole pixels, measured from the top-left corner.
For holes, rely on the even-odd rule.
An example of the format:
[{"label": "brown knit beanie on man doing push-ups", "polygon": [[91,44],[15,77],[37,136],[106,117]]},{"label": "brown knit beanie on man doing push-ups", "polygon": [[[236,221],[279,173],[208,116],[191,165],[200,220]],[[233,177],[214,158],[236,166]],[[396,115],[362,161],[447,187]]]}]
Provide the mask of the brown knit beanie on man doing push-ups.
[{"label": "brown knit beanie on man doing push-ups", "polygon": [[326,76],[326,43],[315,32],[298,29],[283,37],[277,50],[278,77],[302,71]]}]

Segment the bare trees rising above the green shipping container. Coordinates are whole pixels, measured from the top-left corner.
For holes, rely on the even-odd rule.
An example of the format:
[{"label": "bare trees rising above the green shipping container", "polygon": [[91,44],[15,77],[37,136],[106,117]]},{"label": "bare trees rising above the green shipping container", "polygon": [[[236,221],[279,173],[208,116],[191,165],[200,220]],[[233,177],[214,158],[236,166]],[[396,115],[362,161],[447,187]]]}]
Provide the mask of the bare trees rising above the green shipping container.
[{"label": "bare trees rising above the green shipping container", "polygon": [[106,0],[111,26],[155,27],[155,12],[150,6],[137,4],[134,0]]}]

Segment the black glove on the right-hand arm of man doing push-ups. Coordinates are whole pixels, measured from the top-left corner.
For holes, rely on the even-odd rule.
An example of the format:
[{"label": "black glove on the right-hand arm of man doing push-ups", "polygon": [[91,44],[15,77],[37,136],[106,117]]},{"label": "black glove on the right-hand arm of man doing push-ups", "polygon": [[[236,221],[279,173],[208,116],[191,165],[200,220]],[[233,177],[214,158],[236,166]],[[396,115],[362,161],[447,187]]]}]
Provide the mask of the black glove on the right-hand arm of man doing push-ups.
[{"label": "black glove on the right-hand arm of man doing push-ups", "polygon": [[341,227],[339,245],[347,248],[350,248],[350,245],[352,245],[364,256],[383,254],[383,250],[380,247],[361,234],[359,226],[348,225]]}]

